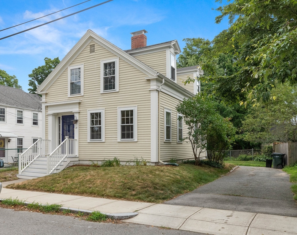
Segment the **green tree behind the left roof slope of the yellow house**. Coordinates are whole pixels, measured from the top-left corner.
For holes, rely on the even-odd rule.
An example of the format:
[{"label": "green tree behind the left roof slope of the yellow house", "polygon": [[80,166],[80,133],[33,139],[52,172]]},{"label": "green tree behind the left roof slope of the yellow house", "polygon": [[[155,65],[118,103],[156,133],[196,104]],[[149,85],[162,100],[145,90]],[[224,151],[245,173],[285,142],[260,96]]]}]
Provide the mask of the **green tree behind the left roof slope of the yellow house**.
[{"label": "green tree behind the left roof slope of the yellow house", "polygon": [[40,85],[50,75],[53,69],[60,63],[60,60],[59,57],[53,60],[46,57],[44,58],[44,62],[45,65],[38,66],[38,68],[33,69],[32,73],[28,75],[31,78],[29,80],[29,86],[32,87],[28,89],[29,93],[36,94],[37,85]]}]

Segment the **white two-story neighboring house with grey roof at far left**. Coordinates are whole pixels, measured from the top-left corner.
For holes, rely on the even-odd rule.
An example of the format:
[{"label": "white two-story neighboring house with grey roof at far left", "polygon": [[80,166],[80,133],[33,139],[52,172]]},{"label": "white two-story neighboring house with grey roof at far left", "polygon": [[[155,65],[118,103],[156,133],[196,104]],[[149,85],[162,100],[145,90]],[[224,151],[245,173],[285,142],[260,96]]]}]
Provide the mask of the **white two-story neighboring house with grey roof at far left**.
[{"label": "white two-story neighboring house with grey roof at far left", "polygon": [[0,85],[0,158],[11,162],[13,151],[1,149],[28,148],[41,137],[41,97]]}]

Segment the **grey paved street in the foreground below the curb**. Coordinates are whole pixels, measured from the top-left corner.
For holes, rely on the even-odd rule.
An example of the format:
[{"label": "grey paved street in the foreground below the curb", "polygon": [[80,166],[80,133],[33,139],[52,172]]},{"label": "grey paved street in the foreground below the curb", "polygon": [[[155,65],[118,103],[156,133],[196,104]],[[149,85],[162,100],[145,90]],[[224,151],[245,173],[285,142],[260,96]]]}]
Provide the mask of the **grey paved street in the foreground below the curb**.
[{"label": "grey paved street in the foreground below the curb", "polygon": [[1,235],[206,235],[126,223],[111,224],[79,220],[71,216],[14,211],[0,207]]}]

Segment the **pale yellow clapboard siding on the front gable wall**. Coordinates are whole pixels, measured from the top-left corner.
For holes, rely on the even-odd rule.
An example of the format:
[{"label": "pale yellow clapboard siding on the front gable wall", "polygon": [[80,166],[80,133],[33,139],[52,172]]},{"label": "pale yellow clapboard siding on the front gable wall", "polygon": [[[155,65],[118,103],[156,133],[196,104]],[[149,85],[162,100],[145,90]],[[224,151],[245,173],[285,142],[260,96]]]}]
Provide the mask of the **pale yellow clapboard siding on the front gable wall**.
[{"label": "pale yellow clapboard siding on the front gable wall", "polygon": [[[95,44],[95,53],[89,45]],[[115,54],[91,42],[70,65],[84,64],[84,95],[68,98],[68,70],[48,89],[46,102],[81,99],[79,104],[79,160],[119,158],[134,156],[150,160],[150,81],[129,63],[119,58],[119,92],[100,94],[100,60],[116,58]],[[138,141],[117,141],[117,107],[138,106]],[[87,110],[105,108],[105,142],[87,142]],[[46,127],[48,128],[48,127]],[[76,136],[75,136],[76,138]]]}]

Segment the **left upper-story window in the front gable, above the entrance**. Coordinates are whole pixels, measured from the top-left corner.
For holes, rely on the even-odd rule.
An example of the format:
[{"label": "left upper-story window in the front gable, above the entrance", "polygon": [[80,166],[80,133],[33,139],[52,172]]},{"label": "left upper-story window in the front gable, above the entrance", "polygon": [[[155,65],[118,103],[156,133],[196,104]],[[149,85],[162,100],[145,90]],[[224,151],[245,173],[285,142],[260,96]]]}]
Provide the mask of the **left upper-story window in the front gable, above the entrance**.
[{"label": "left upper-story window in the front gable, above the entrance", "polygon": [[68,66],[68,97],[83,95],[83,64]]}]

